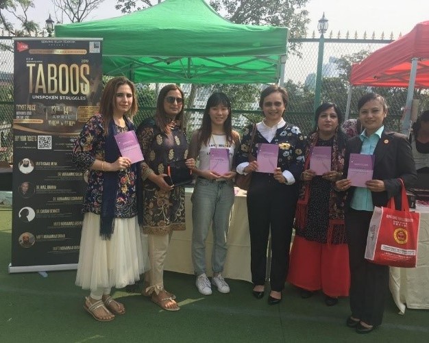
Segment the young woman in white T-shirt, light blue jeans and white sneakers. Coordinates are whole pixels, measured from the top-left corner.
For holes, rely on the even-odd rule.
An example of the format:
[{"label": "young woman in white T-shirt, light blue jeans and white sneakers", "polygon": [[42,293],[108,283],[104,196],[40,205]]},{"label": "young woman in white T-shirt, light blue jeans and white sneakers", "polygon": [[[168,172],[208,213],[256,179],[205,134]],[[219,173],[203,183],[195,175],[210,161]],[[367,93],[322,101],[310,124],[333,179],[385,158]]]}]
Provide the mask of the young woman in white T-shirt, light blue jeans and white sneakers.
[{"label": "young woman in white T-shirt, light blue jeans and white sneakers", "polygon": [[[190,157],[199,160],[193,172],[197,175],[192,195],[192,261],[198,291],[203,295],[212,294],[210,281],[206,275],[206,238],[210,226],[215,242],[212,251],[212,284],[221,293],[229,293],[230,287],[223,279],[223,265],[226,257],[226,236],[230,212],[234,203],[234,176],[232,157],[238,147],[240,136],[232,130],[230,99],[221,92],[212,94],[204,110],[201,128],[194,132],[189,147]],[[210,168],[210,158],[217,151],[228,156],[228,168]],[[228,155],[227,155],[228,154]],[[223,158],[225,158],[223,156]]]}]

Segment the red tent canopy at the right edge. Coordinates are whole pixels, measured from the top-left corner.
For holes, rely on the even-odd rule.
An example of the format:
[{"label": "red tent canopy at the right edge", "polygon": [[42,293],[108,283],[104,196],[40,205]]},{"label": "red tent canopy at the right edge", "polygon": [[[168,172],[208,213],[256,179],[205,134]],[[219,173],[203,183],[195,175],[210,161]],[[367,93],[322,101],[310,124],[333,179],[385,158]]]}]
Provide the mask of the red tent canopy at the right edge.
[{"label": "red tent canopy at the right edge", "polygon": [[415,88],[429,88],[429,21],[352,65],[353,86],[408,87],[411,59],[418,58]]}]

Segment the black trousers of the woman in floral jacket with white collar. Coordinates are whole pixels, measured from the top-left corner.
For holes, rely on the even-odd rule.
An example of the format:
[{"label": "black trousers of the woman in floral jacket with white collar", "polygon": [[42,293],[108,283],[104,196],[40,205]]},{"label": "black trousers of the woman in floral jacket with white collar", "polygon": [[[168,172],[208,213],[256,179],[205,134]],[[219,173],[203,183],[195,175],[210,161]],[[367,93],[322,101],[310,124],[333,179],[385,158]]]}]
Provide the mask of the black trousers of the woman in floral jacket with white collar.
[{"label": "black trousers of the woman in floral jacket with white collar", "polygon": [[271,174],[254,173],[247,191],[252,282],[265,285],[271,229],[271,290],[281,292],[289,266],[297,185],[286,186]]}]

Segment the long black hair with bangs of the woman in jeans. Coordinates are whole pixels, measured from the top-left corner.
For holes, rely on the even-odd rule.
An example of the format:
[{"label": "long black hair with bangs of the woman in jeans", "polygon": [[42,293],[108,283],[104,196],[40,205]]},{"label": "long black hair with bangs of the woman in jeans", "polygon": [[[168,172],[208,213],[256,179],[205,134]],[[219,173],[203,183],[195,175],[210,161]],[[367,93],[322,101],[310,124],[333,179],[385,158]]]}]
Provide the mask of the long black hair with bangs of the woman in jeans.
[{"label": "long black hair with bangs of the woman in jeans", "polygon": [[210,136],[212,135],[212,120],[210,119],[210,107],[215,107],[217,105],[223,105],[228,107],[228,117],[223,123],[223,129],[225,130],[226,140],[232,144],[232,111],[231,111],[231,101],[225,93],[217,92],[210,95],[210,98],[207,100],[206,109],[203,114],[203,123],[199,129],[199,138],[198,144],[201,143],[208,144],[210,141]]}]

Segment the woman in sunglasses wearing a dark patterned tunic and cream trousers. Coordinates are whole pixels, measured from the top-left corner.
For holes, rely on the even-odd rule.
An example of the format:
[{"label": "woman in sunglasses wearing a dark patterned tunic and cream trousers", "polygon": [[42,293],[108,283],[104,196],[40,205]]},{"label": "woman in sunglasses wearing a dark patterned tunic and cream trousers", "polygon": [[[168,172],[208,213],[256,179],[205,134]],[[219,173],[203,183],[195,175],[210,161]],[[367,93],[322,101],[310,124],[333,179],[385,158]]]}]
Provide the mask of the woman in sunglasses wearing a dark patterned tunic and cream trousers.
[{"label": "woman in sunglasses wearing a dark patterned tunic and cream trousers", "polygon": [[[145,275],[143,294],[167,311],[178,311],[175,295],[164,289],[164,261],[174,230],[185,227],[184,186],[170,186],[167,165],[188,157],[188,142],[183,127],[184,93],[175,84],[164,86],[156,102],[153,118],[138,126],[137,138],[145,160],[143,178],[143,233],[148,236],[151,270]],[[185,162],[195,167],[193,159]]]}]

